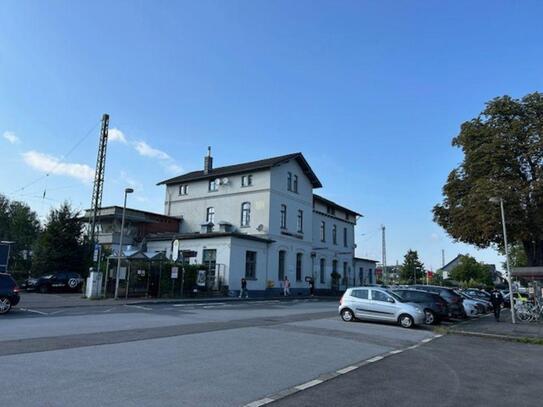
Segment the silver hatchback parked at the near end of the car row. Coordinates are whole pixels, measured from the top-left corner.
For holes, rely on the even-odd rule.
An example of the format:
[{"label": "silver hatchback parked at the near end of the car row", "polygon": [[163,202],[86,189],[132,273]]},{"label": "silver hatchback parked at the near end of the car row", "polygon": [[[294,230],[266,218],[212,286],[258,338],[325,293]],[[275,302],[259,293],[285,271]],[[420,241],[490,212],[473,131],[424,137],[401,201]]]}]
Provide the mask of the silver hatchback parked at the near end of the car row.
[{"label": "silver hatchback parked at the near end of the car row", "polygon": [[424,311],[396,294],[377,287],[348,288],[339,303],[339,315],[346,322],[356,319],[388,321],[404,328],[424,323]]}]

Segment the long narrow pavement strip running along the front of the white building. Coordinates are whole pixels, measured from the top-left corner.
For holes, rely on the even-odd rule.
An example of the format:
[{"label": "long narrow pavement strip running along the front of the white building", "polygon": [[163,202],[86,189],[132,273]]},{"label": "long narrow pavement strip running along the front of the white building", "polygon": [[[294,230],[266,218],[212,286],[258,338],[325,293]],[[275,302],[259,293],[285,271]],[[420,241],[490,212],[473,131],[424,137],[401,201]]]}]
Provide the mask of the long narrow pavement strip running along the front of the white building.
[{"label": "long narrow pavement strip running along the front of the white building", "polygon": [[21,293],[19,308],[45,309],[45,308],[76,308],[76,307],[113,307],[118,305],[143,305],[143,304],[204,304],[216,302],[259,302],[259,301],[292,301],[292,300],[324,300],[339,301],[339,297],[328,296],[291,296],[291,297],[255,297],[239,299],[237,297],[212,297],[212,298],[121,298],[114,300],[106,298],[101,300],[88,300],[81,294],[39,294]]}]

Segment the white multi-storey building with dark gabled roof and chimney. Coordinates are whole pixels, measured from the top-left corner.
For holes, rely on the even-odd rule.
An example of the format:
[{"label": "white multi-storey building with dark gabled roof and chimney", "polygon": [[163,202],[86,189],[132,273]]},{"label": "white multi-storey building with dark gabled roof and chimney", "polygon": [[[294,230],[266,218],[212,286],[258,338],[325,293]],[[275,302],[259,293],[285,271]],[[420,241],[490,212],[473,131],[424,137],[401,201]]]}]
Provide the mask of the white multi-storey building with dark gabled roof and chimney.
[{"label": "white multi-storey building with dark gabled roof and chimney", "polygon": [[301,153],[204,169],[159,183],[166,186],[165,215],[181,218],[180,233],[147,237],[147,250],[173,242],[192,263],[205,264],[208,286],[279,290],[285,276],[291,291],[330,289],[332,272],[340,287],[352,285],[354,227],[361,215],[313,193],[322,187]]}]

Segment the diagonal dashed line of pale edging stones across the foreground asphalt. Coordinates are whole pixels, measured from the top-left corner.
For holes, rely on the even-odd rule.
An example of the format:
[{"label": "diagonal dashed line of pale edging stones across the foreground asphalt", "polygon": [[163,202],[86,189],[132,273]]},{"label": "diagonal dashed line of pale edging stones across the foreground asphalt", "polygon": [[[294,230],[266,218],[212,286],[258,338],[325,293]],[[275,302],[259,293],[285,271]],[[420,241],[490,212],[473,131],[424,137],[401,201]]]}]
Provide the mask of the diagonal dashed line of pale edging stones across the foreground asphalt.
[{"label": "diagonal dashed line of pale edging stones across the foreground asphalt", "polygon": [[323,374],[319,375],[318,377],[316,377],[315,379],[309,380],[308,382],[301,383],[301,384],[298,384],[296,386],[289,387],[289,388],[287,388],[285,390],[282,390],[280,392],[269,394],[266,397],[263,397],[263,398],[261,398],[259,400],[255,400],[255,401],[252,401],[252,402],[250,402],[248,404],[244,404],[243,407],[265,406],[267,404],[270,404],[270,403],[273,403],[275,401],[281,400],[281,399],[283,399],[285,397],[288,397],[288,396],[290,396],[292,394],[296,394],[296,393],[299,393],[301,391],[310,389],[312,387],[318,386],[319,384],[322,384],[322,383],[325,383],[325,382],[330,381],[332,379],[335,379],[336,377],[339,377],[339,376],[342,376],[344,374],[350,373],[350,372],[352,372],[354,370],[360,369],[363,366],[369,365],[371,363],[379,362],[380,360],[383,360],[383,359],[388,358],[388,357],[393,356],[393,355],[398,355],[398,354],[400,354],[402,352],[405,352],[405,351],[408,351],[408,350],[416,349],[419,346],[427,344],[427,343],[433,341],[434,339],[441,338],[442,336],[443,335],[441,335],[441,334],[434,335],[434,336],[432,336],[430,338],[423,339],[423,340],[421,340],[420,342],[418,342],[418,343],[416,343],[414,345],[407,346],[407,347],[401,348],[401,349],[391,350],[391,351],[388,351],[388,352],[385,352],[385,353],[381,353],[379,355],[372,356],[369,359],[364,359],[364,360],[361,360],[361,361],[356,362],[356,363],[351,363],[350,365],[345,366],[345,367],[343,367],[341,369],[335,370],[333,372],[323,373]]}]

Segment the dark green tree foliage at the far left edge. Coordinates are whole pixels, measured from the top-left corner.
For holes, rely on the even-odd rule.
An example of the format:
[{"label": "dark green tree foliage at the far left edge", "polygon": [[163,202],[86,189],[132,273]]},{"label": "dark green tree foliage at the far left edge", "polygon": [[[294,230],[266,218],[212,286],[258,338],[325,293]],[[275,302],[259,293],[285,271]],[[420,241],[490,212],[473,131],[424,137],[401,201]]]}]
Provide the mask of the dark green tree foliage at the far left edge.
[{"label": "dark green tree foliage at the far left edge", "polygon": [[29,253],[39,232],[36,212],[23,202],[10,201],[0,194],[0,240],[14,242],[10,250],[10,270],[29,268]]}]

